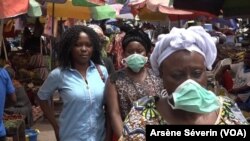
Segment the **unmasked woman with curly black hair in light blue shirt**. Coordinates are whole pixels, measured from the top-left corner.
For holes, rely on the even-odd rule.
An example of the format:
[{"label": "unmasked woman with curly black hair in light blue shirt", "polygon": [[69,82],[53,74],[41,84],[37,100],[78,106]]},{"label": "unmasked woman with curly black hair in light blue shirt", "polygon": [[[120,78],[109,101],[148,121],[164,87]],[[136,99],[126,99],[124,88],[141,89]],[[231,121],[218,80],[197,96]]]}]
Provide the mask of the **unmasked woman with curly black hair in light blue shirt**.
[{"label": "unmasked woman with curly black hair in light blue shirt", "polygon": [[[105,138],[104,86],[108,77],[101,61],[100,39],[86,26],[67,29],[58,47],[58,67],[38,91],[44,115],[57,141],[103,141]],[[48,100],[58,90],[63,101],[59,125]]]}]

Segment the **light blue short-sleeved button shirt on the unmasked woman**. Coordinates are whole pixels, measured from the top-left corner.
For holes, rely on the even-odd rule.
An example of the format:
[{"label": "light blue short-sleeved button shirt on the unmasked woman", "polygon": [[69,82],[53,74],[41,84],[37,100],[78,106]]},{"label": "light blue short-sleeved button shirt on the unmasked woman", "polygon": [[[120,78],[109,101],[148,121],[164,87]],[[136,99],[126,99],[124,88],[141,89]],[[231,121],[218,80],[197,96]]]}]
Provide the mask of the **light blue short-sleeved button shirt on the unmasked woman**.
[{"label": "light blue short-sleeved button shirt on the unmasked woman", "polygon": [[[87,69],[87,82],[75,69],[54,69],[39,89],[38,96],[48,100],[58,90],[63,100],[59,117],[61,141],[102,141],[105,137],[104,82],[93,62]],[[107,80],[108,73],[100,66]]]}]

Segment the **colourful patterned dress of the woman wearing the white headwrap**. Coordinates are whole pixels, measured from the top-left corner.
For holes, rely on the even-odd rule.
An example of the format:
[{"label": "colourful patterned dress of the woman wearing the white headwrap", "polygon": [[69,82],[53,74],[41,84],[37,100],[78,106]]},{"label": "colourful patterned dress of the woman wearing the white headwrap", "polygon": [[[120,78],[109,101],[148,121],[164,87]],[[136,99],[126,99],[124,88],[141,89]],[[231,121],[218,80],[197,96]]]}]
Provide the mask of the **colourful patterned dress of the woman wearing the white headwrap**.
[{"label": "colourful patterned dress of the woman wearing the white headwrap", "polygon": [[[159,112],[156,102],[159,97],[143,97],[139,99],[124,121],[123,136],[120,140],[146,140],[146,125],[166,125]],[[222,106],[216,125],[248,124],[237,105],[228,97],[220,97]]]}]

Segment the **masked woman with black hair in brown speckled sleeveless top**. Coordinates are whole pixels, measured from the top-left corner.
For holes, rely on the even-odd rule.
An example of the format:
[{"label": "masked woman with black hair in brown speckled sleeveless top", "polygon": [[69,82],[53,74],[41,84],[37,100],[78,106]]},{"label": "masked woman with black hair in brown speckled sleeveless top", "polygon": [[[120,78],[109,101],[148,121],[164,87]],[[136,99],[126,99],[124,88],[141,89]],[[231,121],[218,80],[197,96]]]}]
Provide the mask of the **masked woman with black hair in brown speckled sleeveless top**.
[{"label": "masked woman with black hair in brown speckled sleeveless top", "polygon": [[155,96],[163,89],[162,80],[147,67],[151,41],[142,30],[131,30],[122,41],[126,66],[106,82],[105,98],[114,136],[122,135],[123,121],[133,102],[144,96]]}]

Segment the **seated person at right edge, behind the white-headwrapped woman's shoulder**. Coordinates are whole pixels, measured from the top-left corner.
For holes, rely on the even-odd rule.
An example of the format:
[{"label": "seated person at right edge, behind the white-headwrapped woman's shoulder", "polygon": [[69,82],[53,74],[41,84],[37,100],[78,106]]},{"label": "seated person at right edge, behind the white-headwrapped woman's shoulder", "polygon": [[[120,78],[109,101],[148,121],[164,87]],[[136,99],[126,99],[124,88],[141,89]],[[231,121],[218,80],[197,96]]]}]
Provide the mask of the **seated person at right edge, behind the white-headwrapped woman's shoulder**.
[{"label": "seated person at right edge, behind the white-headwrapped woman's shoulder", "polygon": [[250,50],[245,52],[243,62],[224,66],[216,75],[221,76],[225,69],[230,69],[235,75],[233,88],[229,93],[237,95],[240,109],[250,111]]}]

